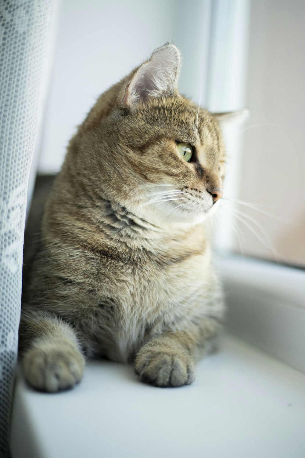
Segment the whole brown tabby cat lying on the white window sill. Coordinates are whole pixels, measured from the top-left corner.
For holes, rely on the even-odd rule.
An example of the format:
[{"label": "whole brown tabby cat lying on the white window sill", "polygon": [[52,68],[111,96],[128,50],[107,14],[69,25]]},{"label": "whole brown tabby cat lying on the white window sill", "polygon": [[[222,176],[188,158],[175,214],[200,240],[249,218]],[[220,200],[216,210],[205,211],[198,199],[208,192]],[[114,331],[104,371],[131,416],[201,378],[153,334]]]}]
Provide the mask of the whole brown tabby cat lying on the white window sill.
[{"label": "whole brown tabby cat lying on the white window sill", "polygon": [[205,221],[223,195],[220,125],[178,93],[165,44],[112,86],[70,140],[24,283],[22,370],[38,390],[80,382],[85,358],[133,361],[142,382],[188,385],[224,303]]}]

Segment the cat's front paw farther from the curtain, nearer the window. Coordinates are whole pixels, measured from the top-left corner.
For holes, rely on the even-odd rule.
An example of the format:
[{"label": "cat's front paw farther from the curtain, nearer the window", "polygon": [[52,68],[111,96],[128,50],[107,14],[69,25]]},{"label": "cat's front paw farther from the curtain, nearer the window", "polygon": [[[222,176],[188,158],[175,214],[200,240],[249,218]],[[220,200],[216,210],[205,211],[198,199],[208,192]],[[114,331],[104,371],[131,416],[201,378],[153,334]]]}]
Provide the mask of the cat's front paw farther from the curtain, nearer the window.
[{"label": "cat's front paw farther from the curtain, nearer the window", "polygon": [[141,382],[156,387],[181,387],[195,379],[193,360],[172,349],[143,347],[136,356],[134,368]]}]

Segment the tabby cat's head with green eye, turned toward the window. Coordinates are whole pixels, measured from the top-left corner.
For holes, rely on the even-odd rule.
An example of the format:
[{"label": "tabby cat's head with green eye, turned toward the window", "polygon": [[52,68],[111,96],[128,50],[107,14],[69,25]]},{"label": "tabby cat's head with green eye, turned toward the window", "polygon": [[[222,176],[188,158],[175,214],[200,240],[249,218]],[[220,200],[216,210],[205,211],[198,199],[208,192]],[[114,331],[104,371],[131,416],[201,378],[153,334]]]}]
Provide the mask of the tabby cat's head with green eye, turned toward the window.
[{"label": "tabby cat's head with green eye, turned toward the window", "polygon": [[86,186],[154,224],[199,222],[224,192],[220,125],[236,114],[180,95],[180,67],[176,46],[155,49],[102,94],[70,147]]}]

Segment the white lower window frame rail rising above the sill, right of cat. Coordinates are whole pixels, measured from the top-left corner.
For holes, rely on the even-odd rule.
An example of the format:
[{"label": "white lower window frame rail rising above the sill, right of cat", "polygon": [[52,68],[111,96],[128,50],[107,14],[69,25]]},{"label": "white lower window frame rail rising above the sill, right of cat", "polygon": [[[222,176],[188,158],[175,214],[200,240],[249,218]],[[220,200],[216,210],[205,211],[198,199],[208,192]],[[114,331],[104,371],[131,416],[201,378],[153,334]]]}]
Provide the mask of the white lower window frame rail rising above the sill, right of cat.
[{"label": "white lower window frame rail rising above the sill, right of cat", "polygon": [[305,373],[305,270],[238,256],[215,264],[227,329]]}]

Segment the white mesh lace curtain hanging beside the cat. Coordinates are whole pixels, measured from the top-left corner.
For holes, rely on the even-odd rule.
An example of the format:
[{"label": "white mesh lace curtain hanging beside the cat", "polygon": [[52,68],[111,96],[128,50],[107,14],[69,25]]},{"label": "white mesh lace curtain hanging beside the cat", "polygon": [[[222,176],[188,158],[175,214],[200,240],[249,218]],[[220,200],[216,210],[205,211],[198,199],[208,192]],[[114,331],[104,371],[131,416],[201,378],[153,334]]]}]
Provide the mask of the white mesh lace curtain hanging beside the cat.
[{"label": "white mesh lace curtain hanging beside the cat", "polygon": [[17,358],[27,182],[51,0],[0,0],[0,457]]}]

